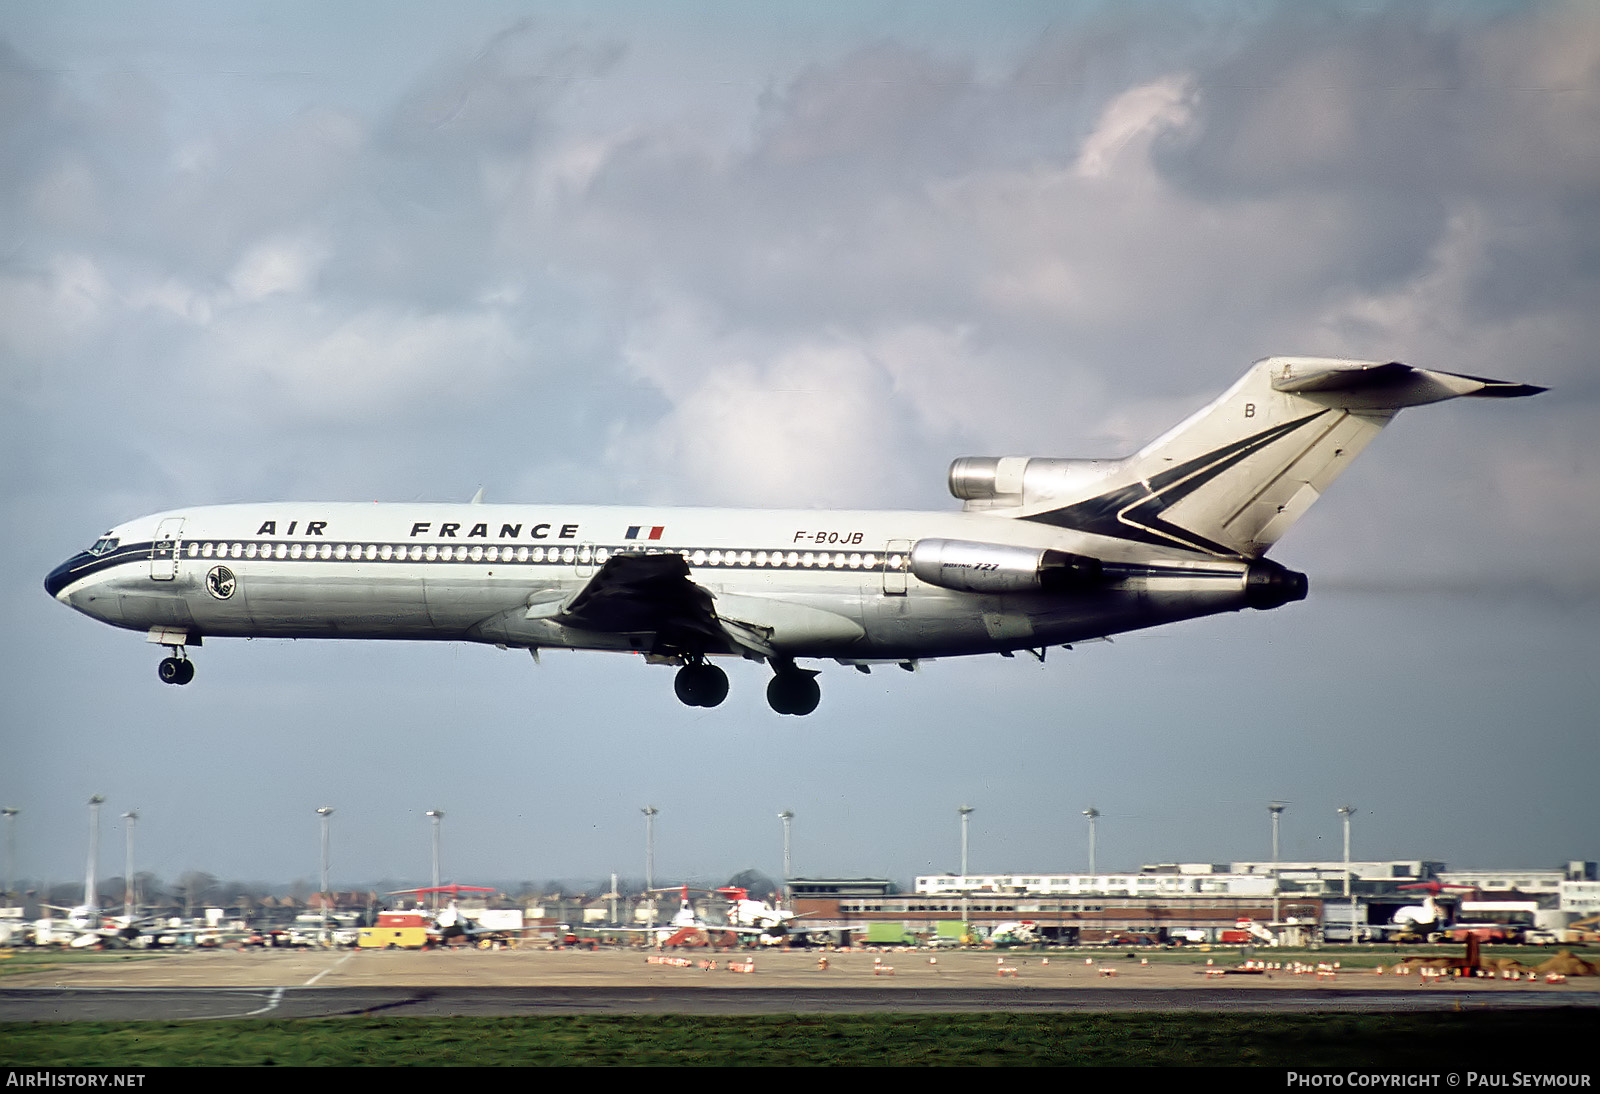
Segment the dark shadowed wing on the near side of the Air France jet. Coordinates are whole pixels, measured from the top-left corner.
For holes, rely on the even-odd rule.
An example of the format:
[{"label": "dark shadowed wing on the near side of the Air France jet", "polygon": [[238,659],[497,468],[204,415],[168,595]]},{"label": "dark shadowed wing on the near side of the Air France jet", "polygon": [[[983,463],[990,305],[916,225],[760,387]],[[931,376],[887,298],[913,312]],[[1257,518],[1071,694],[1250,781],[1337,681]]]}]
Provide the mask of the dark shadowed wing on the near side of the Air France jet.
[{"label": "dark shadowed wing on the near side of the Air France jet", "polygon": [[528,617],[608,633],[653,633],[666,651],[725,651],[738,640],[712,606],[710,590],[690,581],[683,555],[613,555],[589,584],[560,605],[534,605]]}]

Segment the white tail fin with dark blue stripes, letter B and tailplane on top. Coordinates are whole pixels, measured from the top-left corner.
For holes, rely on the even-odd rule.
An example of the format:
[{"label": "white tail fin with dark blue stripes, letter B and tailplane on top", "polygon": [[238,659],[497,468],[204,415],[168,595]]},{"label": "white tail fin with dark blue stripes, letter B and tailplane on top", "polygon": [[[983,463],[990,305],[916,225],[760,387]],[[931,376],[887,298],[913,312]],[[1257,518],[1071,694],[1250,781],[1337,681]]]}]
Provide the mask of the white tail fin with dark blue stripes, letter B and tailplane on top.
[{"label": "white tail fin with dark blue stripes, letter B and tailplane on top", "polygon": [[[1024,472],[1016,515],[1118,539],[1259,558],[1400,409],[1461,395],[1542,390],[1400,363],[1269,357],[1139,453],[1098,462],[1093,497],[1062,507],[1062,494],[1040,494],[1053,478],[1074,481],[1075,475],[1051,475],[1046,467],[1038,475]],[[1029,461],[1027,472],[1035,462],[1062,461]],[[1027,491],[1029,478],[1043,491]]]}]

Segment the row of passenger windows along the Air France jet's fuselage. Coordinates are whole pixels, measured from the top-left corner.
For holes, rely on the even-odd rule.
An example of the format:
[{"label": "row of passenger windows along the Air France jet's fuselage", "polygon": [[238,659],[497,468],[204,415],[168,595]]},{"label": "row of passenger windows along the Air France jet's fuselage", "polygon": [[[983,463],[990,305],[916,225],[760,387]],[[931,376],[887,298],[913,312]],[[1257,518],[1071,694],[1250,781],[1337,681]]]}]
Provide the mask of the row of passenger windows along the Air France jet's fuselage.
[{"label": "row of passenger windows along the Air France jet's fuselage", "polygon": [[[611,547],[496,547],[474,544],[301,544],[301,542],[216,542],[190,541],[184,552],[189,558],[302,558],[330,561],[518,561],[518,563],[605,563],[616,549]],[[875,569],[874,553],[782,552],[782,550],[693,550],[685,552],[691,566],[771,566],[814,569]],[[902,565],[899,555],[890,557],[890,566]]]}]

